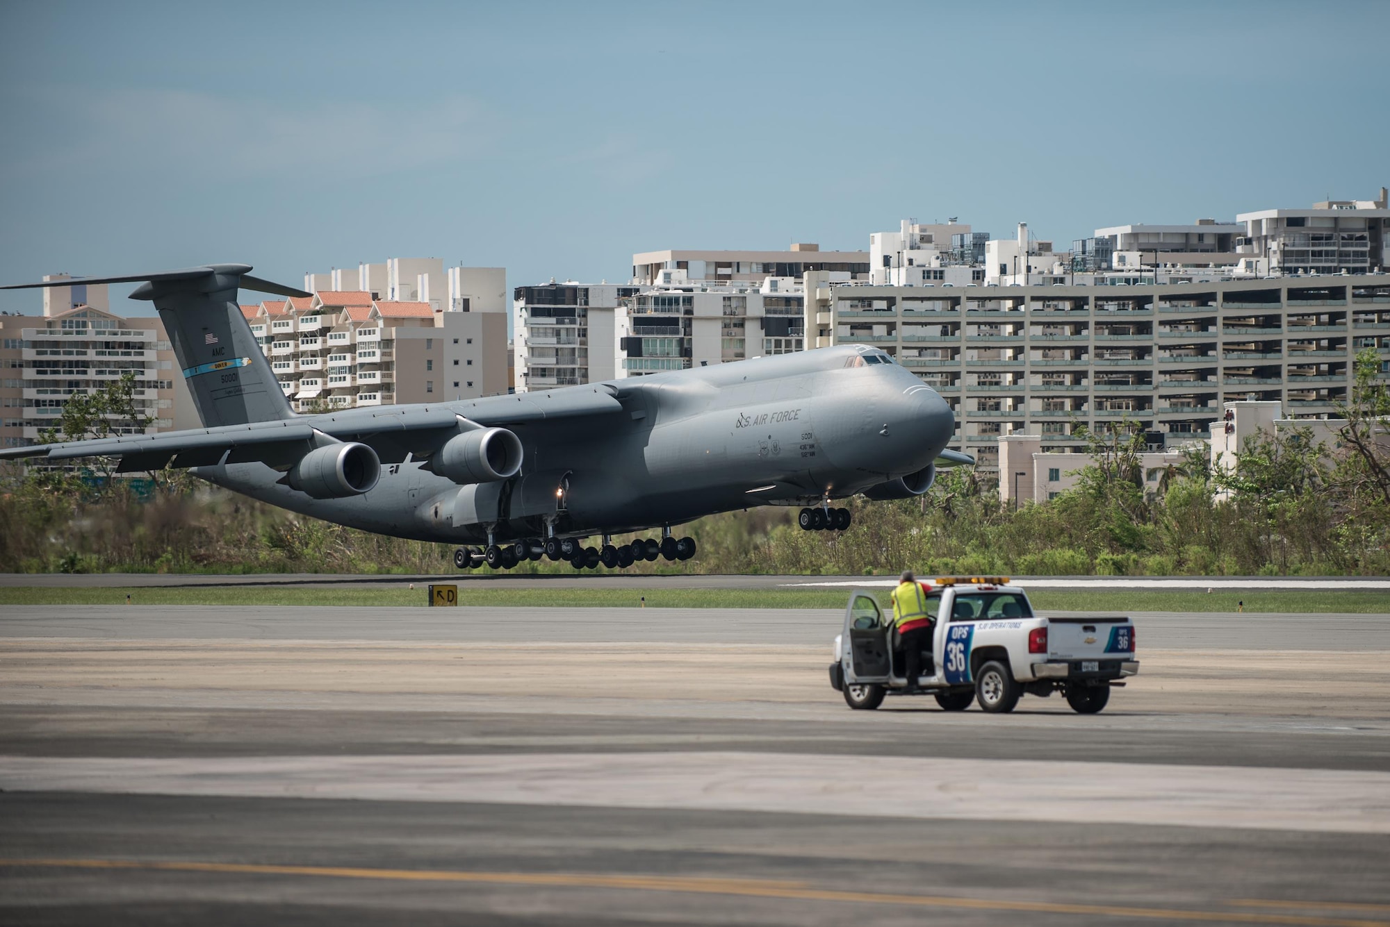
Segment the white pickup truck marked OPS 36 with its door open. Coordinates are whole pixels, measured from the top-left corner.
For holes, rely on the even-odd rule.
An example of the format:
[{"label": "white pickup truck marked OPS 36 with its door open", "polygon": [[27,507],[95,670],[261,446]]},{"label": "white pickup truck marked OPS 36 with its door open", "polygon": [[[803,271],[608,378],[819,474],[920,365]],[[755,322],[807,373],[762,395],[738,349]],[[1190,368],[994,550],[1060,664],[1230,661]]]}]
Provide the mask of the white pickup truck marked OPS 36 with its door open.
[{"label": "white pickup truck marked OPS 36 with its door open", "polygon": [[1006,576],[947,576],[927,593],[934,619],[924,676],[905,679],[894,652],[892,615],[873,594],[855,590],[845,627],[835,637],[830,684],[849,708],[878,708],[884,695],[935,695],[948,712],[979,701],[987,712],[1012,712],[1023,692],[1061,691],[1068,705],[1094,715],[1111,688],[1138,672],[1134,624],[1127,618],[1041,618]]}]

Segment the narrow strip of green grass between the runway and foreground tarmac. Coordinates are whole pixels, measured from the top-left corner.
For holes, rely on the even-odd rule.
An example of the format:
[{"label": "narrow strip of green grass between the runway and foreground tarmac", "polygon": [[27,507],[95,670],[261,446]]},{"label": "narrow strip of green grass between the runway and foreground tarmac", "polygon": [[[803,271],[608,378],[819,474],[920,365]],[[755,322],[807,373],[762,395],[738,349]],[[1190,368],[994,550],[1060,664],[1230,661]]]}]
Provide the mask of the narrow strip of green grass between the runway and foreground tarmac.
[{"label": "narrow strip of green grass between the runway and foreground tarmac", "polygon": [[[874,590],[885,602],[888,590]],[[530,608],[844,608],[847,588],[480,588],[459,584],[460,605]],[[410,608],[425,605],[425,587],[406,583],[391,588],[360,586],[181,586],[131,588],[0,588],[4,605],[117,605],[131,597],[140,605],[359,605]],[[1069,612],[1247,612],[1390,613],[1390,595],[1365,591],[1194,591],[1161,590],[1038,590],[1030,593],[1040,611]]]}]

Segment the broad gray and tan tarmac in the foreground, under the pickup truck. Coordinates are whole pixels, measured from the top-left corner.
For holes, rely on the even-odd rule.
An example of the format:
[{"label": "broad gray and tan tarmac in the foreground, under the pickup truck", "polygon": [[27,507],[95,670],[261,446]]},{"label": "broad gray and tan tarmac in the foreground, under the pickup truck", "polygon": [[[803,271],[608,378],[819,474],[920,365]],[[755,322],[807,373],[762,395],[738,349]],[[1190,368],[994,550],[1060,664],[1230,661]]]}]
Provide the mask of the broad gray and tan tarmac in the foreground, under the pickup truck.
[{"label": "broad gray and tan tarmac in the foreground, under the pickup truck", "polygon": [[1147,615],[1098,716],[835,611],[0,608],[0,919],[1390,924],[1390,618]]}]

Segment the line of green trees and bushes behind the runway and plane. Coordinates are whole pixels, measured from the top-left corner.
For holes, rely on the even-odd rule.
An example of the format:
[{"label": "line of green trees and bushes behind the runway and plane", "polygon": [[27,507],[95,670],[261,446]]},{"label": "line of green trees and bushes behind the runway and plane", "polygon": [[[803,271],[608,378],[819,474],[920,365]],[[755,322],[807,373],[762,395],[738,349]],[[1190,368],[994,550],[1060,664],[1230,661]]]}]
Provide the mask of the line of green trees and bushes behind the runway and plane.
[{"label": "line of green trees and bushes behind the runway and plane", "polygon": [[[1137,423],[1087,439],[1073,488],[1004,505],[969,468],[942,472],[916,500],[851,500],[844,533],[802,531],[795,509],[699,519],[699,554],[628,572],[1248,576],[1390,573],[1390,389],[1364,351],[1344,423],[1262,433],[1234,466],[1205,448],[1158,472],[1143,466]],[[143,427],[133,377],[67,404],[44,440]],[[142,422],[145,425],[142,425]],[[111,461],[11,468],[0,491],[0,572],[452,572],[453,547],[389,538],[275,509],[181,470],[115,479]],[[525,563],[521,572],[569,572]]]}]

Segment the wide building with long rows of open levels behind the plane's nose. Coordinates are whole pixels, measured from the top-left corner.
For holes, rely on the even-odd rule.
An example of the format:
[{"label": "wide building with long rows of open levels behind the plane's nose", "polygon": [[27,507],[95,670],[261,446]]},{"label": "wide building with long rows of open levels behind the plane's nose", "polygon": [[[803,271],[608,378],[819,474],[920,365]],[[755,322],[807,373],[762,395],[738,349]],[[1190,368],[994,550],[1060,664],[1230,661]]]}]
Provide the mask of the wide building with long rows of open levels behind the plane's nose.
[{"label": "wide building with long rows of open levels behind the plane's nose", "polygon": [[1390,373],[1390,278],[1144,286],[876,287],[806,275],[808,347],[884,348],[956,415],[952,447],[998,468],[1001,434],[1076,450],[1074,423],[1129,419],[1148,444],[1208,437],[1222,405],[1279,401],[1326,418],[1358,350]]}]

